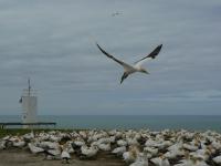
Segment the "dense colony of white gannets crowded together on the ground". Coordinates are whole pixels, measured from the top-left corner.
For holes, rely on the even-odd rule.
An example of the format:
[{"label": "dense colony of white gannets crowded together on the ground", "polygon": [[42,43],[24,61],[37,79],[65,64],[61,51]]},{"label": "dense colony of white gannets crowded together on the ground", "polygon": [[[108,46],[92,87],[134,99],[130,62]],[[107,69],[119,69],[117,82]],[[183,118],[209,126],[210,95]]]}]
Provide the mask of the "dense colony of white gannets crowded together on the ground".
[{"label": "dense colony of white gannets crowded together on the ground", "polygon": [[34,131],[0,138],[0,152],[10,148],[44,154],[44,159],[62,163],[71,163],[73,156],[96,159],[105,152],[122,158],[128,166],[221,165],[221,134],[212,131]]}]

